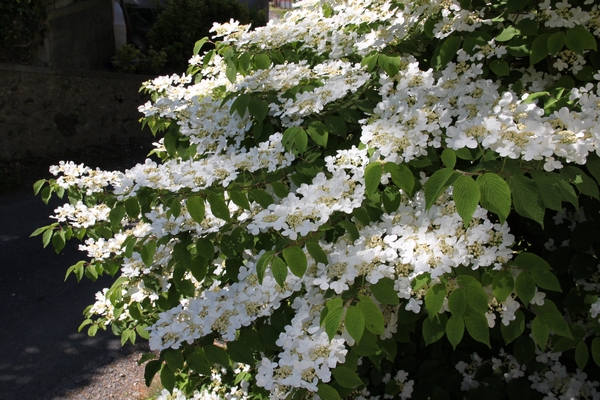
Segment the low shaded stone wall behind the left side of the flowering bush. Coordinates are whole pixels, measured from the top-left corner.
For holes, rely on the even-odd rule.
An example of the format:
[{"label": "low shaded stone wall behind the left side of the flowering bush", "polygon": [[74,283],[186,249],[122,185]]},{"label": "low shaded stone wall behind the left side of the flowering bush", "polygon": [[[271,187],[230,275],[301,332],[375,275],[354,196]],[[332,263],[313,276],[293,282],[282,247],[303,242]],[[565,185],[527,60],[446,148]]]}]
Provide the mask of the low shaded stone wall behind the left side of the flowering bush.
[{"label": "low shaded stone wall behind the left side of the flowering bush", "polygon": [[0,63],[0,160],[150,138],[139,92],[148,76]]}]

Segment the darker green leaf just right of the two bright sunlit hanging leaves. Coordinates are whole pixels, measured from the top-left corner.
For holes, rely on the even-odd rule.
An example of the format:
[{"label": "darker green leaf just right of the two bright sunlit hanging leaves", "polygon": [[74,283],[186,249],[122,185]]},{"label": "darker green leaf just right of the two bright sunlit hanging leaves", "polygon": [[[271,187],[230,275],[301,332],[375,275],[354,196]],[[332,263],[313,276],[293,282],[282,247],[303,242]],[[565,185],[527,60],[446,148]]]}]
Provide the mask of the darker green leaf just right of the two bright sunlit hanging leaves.
[{"label": "darker green leaf just right of the two bright sunlit hanging leaves", "polygon": [[536,221],[543,228],[546,207],[535,182],[523,175],[517,175],[508,178],[508,186],[517,213]]}]

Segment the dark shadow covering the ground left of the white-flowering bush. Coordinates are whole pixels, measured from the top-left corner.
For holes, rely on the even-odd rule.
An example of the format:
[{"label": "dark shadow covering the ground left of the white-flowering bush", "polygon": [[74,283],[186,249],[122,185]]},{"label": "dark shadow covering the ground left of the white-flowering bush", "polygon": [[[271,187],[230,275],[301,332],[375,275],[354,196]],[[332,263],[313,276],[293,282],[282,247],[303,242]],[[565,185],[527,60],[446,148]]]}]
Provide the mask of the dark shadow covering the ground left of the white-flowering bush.
[{"label": "dark shadow covering the ground left of the white-flowering bush", "polygon": [[[113,146],[114,147],[114,146]],[[130,149],[131,150],[131,149]],[[143,162],[149,147],[136,146],[119,155],[111,146],[81,154],[89,166],[110,168]],[[104,157],[102,151],[112,152]],[[115,158],[116,157],[116,158]],[[101,161],[94,164],[96,161]],[[104,164],[104,165],[101,165]],[[47,166],[45,167],[47,171]],[[0,195],[0,399],[53,399],[83,387],[94,369],[130,353],[111,332],[88,337],[77,328],[82,312],[94,302],[94,294],[111,285],[111,278],[97,282],[74,276],[64,281],[67,268],[83,259],[77,243],[57,255],[42,247],[41,237],[30,234],[52,220],[54,208],[64,203],[53,199],[45,205],[33,196],[31,185],[37,166],[19,178],[19,185]],[[9,172],[10,174],[10,172]],[[46,174],[47,175],[47,174]],[[46,177],[44,175],[43,177]],[[40,176],[38,176],[40,177]]]}]

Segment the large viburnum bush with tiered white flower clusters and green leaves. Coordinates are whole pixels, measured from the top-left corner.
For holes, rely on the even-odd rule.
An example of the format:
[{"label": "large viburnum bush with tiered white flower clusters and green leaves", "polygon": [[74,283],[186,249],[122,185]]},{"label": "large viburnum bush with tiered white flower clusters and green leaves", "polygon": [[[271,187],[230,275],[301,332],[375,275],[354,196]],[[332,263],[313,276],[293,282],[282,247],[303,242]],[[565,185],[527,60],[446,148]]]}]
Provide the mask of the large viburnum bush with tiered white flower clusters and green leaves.
[{"label": "large viburnum bush with tiered white flower clusters and green leaves", "polygon": [[144,84],[38,229],[161,398],[599,399],[600,6],[307,0]]}]

